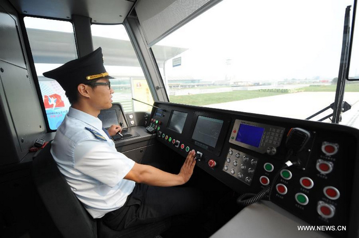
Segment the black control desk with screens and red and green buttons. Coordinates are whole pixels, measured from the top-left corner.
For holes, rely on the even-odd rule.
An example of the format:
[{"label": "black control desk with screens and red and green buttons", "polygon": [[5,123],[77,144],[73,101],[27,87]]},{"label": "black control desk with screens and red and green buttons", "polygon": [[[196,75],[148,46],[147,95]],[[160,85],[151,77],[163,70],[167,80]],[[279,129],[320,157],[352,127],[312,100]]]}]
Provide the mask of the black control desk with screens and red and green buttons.
[{"label": "black control desk with screens and red and green buttons", "polygon": [[[355,128],[250,113],[155,102],[159,142],[238,193],[271,186],[270,201],[315,226],[357,236],[358,139]],[[292,166],[284,166],[287,161]],[[290,163],[289,163],[290,164]]]}]

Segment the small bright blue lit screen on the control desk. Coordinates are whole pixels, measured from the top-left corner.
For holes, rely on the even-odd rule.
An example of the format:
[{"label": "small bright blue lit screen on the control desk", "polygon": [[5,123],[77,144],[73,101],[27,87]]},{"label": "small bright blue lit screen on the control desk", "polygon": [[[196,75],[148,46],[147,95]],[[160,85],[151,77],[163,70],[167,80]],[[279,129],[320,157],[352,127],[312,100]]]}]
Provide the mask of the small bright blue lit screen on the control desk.
[{"label": "small bright blue lit screen on the control desk", "polygon": [[247,145],[260,147],[263,132],[263,127],[241,124],[235,140]]}]

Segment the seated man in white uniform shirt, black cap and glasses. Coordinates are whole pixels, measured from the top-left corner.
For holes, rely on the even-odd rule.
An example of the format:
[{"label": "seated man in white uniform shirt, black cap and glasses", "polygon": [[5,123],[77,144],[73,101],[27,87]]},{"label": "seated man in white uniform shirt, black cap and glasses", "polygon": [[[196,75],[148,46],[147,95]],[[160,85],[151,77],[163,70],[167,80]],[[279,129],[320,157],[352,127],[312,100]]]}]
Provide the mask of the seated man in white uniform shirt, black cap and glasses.
[{"label": "seated man in white uniform shirt, black cap and glasses", "polygon": [[[58,127],[51,154],[67,183],[93,218],[102,218],[114,230],[198,211],[202,196],[197,190],[171,187],[185,184],[195,161],[189,152],[179,174],[138,164],[117,152],[108,132],[97,118],[112,106],[109,78],[101,48],[52,71],[45,77],[59,82],[71,107]],[[148,186],[151,185],[151,186]]]}]

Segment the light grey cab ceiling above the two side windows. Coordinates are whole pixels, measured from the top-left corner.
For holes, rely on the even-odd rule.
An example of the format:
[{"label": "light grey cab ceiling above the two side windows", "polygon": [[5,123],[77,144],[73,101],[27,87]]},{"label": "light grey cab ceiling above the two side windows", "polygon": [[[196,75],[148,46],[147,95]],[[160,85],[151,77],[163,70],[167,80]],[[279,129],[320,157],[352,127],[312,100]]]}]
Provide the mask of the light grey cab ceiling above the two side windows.
[{"label": "light grey cab ceiling above the two side windows", "polygon": [[20,14],[71,19],[88,16],[92,23],[120,24],[135,0],[9,0]]}]

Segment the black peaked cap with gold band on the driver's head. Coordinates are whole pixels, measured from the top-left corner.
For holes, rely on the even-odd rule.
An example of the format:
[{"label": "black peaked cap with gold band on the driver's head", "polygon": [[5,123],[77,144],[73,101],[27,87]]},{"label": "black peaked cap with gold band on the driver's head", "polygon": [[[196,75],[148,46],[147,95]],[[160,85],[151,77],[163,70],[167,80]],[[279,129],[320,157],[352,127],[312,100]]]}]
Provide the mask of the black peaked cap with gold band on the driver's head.
[{"label": "black peaked cap with gold band on the driver's head", "polygon": [[55,79],[65,91],[76,87],[80,83],[88,83],[93,79],[112,78],[106,72],[102,49],[85,55],[81,58],[71,60],[54,70],[43,74],[47,78]]}]

